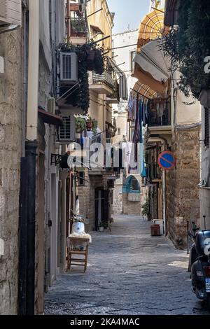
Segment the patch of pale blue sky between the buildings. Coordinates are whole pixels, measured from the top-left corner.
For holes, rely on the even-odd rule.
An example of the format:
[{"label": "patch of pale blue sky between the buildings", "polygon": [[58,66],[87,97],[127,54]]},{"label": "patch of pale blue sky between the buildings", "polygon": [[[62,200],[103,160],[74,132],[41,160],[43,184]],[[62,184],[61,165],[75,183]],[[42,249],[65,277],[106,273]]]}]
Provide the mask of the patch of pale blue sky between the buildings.
[{"label": "patch of pale blue sky between the buildings", "polygon": [[138,29],[141,19],[149,11],[150,0],[106,0],[111,13],[116,13],[113,33]]}]

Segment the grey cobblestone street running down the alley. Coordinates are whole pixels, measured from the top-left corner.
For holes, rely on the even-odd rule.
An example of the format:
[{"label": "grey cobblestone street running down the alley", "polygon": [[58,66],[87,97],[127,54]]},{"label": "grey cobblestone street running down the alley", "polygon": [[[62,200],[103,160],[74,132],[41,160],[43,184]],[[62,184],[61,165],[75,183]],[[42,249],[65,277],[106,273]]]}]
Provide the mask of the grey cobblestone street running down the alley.
[{"label": "grey cobblestone street running down the alley", "polygon": [[116,216],[111,232],[92,232],[87,272],[59,276],[45,314],[209,314],[190,288],[188,255],[150,223]]}]

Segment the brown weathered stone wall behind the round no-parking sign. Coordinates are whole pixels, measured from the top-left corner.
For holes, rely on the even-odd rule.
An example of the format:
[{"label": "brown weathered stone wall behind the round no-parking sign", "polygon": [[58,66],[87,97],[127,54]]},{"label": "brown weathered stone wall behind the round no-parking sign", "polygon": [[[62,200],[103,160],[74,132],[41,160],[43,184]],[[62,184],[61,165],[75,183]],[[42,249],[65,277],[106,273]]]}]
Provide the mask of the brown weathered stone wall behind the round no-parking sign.
[{"label": "brown weathered stone wall behind the round no-parking sign", "polygon": [[200,127],[176,129],[172,152],[176,169],[167,172],[167,234],[179,248],[186,246],[187,221],[200,225]]}]

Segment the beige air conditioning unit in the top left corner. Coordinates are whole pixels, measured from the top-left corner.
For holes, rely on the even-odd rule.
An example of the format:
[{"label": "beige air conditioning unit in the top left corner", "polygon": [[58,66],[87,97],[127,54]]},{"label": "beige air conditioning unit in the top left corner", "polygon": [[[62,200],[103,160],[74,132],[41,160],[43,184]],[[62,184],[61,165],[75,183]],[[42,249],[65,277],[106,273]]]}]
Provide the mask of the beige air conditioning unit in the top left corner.
[{"label": "beige air conditioning unit in the top left corner", "polygon": [[21,26],[21,13],[21,0],[0,0],[0,26],[8,24]]}]

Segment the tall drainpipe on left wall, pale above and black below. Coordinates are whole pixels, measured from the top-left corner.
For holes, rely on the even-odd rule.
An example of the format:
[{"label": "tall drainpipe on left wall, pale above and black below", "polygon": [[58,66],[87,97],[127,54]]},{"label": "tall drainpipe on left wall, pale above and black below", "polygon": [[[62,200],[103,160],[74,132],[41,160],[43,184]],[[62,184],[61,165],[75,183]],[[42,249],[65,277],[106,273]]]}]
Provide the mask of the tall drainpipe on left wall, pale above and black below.
[{"label": "tall drainpipe on left wall, pale above and black below", "polygon": [[38,125],[39,1],[29,0],[29,62],[27,97],[27,315],[34,315],[36,148]]}]

